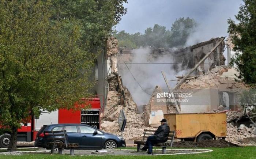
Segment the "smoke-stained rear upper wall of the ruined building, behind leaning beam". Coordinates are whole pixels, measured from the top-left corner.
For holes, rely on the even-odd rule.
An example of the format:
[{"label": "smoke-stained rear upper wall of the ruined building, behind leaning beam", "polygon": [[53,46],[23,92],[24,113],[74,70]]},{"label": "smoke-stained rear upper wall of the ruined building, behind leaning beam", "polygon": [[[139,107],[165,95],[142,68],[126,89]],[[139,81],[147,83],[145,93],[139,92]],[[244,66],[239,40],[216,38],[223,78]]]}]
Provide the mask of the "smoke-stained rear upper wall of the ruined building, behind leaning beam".
[{"label": "smoke-stained rear upper wall of the ruined building, behind leaning beam", "polygon": [[[197,43],[193,46],[188,46],[186,48],[181,49],[172,49],[172,48],[150,48],[151,56],[150,58],[158,58],[159,56],[164,57],[166,59],[170,59],[170,61],[174,61],[177,64],[173,65],[173,69],[178,71],[178,69],[191,69],[193,68],[214,46],[222,39],[220,38],[212,38],[209,41],[204,41],[201,43]],[[223,51],[225,48],[225,43],[222,42],[217,49],[202,63],[198,68],[196,75],[201,75],[203,73],[207,73],[208,70],[211,70],[214,66],[225,65],[226,58],[223,55]],[[119,49],[119,57],[117,58],[118,63],[123,63],[123,61],[131,61],[132,60],[132,49],[128,48],[118,48]],[[181,68],[178,67],[181,64]],[[123,69],[123,65],[118,65],[118,68]],[[121,70],[122,71],[122,70]]]}]

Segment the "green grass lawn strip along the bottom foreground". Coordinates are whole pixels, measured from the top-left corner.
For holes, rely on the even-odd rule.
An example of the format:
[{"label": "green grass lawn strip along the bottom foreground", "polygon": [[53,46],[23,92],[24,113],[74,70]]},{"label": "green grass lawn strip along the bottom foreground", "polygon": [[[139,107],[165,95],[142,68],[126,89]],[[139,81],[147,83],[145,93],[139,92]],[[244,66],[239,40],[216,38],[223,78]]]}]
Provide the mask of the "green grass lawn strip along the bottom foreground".
[{"label": "green grass lawn strip along the bottom foreground", "polygon": [[[129,148],[135,149],[135,148]],[[21,156],[3,156],[1,155],[0,158],[14,158],[14,159],[45,159],[45,158],[52,158],[52,159],[63,159],[63,158],[90,158],[90,159],[133,159],[133,158],[140,158],[140,159],[147,159],[147,158],[172,158],[172,159],[256,159],[256,147],[230,147],[230,148],[206,148],[212,149],[213,152],[207,152],[203,154],[193,154],[193,155],[166,155],[166,156],[69,156],[69,155],[50,155],[50,154],[23,154]],[[154,152],[154,151],[153,151]]]}]

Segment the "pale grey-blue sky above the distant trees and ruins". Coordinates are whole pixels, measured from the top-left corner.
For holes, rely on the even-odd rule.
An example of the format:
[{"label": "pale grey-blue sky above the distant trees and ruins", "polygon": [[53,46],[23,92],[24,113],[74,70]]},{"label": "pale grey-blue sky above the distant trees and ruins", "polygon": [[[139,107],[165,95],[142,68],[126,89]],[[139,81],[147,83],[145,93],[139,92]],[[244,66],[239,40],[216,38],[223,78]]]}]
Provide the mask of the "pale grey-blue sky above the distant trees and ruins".
[{"label": "pale grey-blue sky above the distant trees and ruins", "polygon": [[124,4],[127,14],[115,29],[144,33],[154,24],[170,29],[176,18],[190,17],[200,24],[200,35],[204,34],[207,40],[227,35],[227,19],[235,20],[242,3],[242,0],[128,0]]}]

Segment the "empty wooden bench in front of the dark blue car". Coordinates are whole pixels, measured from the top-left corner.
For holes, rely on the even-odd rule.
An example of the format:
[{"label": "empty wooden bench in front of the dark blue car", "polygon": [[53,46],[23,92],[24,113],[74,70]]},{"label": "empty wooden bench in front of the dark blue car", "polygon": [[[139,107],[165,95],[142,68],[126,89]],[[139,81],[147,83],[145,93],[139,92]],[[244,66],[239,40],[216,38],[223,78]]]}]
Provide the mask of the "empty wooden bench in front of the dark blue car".
[{"label": "empty wooden bench in front of the dark blue car", "polygon": [[[75,155],[74,148],[78,148],[78,143],[67,142],[67,131],[45,131],[46,143],[50,145],[51,154],[54,154],[54,149],[58,148],[59,154],[62,154],[63,149],[70,149],[70,155]],[[62,142],[64,141],[64,143]]]}]

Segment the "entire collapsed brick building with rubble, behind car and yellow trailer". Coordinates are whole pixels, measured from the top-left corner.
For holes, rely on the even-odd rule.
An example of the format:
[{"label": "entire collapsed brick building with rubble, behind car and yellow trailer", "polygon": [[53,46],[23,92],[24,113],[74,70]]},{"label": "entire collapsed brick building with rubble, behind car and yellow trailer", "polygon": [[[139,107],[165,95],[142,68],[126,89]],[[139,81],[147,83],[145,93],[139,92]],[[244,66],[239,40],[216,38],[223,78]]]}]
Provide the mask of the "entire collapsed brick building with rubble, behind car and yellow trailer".
[{"label": "entire collapsed brick building with rubble, behind car and yellow trailer", "polygon": [[[164,56],[173,61],[178,61],[184,69],[191,69],[211,51],[220,39],[221,38],[212,38],[209,41],[178,50],[151,48],[151,54],[148,58]],[[114,44],[108,42],[108,48],[117,47],[116,40],[112,38],[111,41],[114,41]],[[237,101],[236,89],[246,89],[248,86],[236,79],[235,74],[237,74],[237,72],[234,68],[225,65],[225,57],[223,56],[224,48],[225,43],[221,42],[221,44],[214,49],[213,53],[196,68],[196,71],[178,87],[179,91],[193,90],[194,94],[198,94],[195,96],[194,100],[198,100],[197,97],[202,97],[203,94],[202,99],[204,99],[204,102],[206,101],[208,103],[204,103],[203,105],[191,105],[191,103],[182,105],[179,103],[178,106],[181,111],[180,113],[205,113],[227,109],[233,110],[227,111],[226,140],[238,145],[248,145],[248,143],[244,142],[249,137],[255,137],[255,128],[251,125],[249,128],[246,127],[248,125],[233,124],[233,120],[241,118],[241,113],[237,112],[242,110]],[[125,128],[124,138],[126,140],[138,140],[145,128],[152,129],[151,126],[158,126],[159,121],[163,118],[163,114],[177,113],[177,109],[173,103],[155,104],[156,94],[162,92],[160,86],[155,86],[155,91],[152,93],[147,105],[144,106],[143,113],[139,114],[132,94],[128,91],[127,87],[123,85],[122,77],[118,74],[118,72],[122,72],[125,67],[118,63],[132,61],[134,56],[131,52],[132,50],[128,48],[118,48],[118,53],[116,53],[116,48],[112,48],[112,50],[115,50],[115,54],[109,54],[108,68],[113,67],[114,69],[111,68],[112,73],[109,72],[108,77],[106,77],[109,91],[101,128],[106,132],[121,135],[117,118],[120,110],[123,109],[127,114],[127,126]],[[175,66],[174,69],[176,69]],[[175,81],[178,83],[183,77],[184,76],[177,76]],[[255,145],[255,143],[249,145]]]}]

